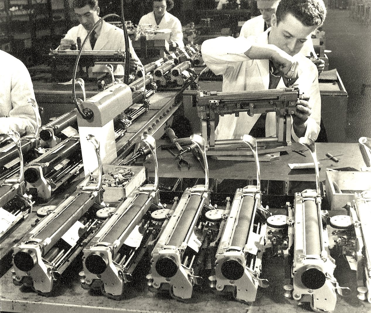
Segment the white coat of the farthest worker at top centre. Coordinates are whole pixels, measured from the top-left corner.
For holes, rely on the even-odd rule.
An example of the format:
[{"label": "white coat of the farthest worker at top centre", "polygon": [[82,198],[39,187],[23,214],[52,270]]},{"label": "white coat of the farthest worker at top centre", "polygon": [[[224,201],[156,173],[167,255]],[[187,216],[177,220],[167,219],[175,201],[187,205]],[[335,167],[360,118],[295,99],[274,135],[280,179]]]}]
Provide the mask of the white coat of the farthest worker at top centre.
[{"label": "white coat of the farthest worker at top centre", "polygon": [[157,26],[158,29],[171,29],[171,33],[159,34],[159,36],[156,36],[156,38],[166,39],[169,43],[170,40],[173,40],[180,48],[184,48],[182,25],[180,23],[180,20],[174,15],[170,14],[169,12],[165,12],[160,24],[157,25],[155,14],[152,11],[148,14],[143,15],[139,20],[138,25],[144,24],[150,24],[153,27]]}]

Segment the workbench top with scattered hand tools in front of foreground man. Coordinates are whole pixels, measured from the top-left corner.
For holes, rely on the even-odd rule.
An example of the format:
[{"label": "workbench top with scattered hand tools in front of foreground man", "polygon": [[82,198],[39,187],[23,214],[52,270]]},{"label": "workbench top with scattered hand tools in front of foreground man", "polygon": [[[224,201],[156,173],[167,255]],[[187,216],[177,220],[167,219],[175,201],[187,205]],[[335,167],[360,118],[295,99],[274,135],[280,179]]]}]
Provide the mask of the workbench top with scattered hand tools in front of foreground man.
[{"label": "workbench top with scattered hand tools in front of foreground man", "polygon": [[[157,146],[164,141],[158,142]],[[168,143],[168,142],[166,142]],[[260,162],[260,179],[262,180],[282,180],[282,181],[315,181],[314,169],[291,170],[289,163],[310,163],[313,162],[309,151],[305,151],[306,157],[292,152],[292,150],[304,150],[305,147],[299,143],[293,143],[287,151],[288,154],[280,156],[278,160],[270,162]],[[326,168],[342,169],[352,167],[361,170],[365,163],[362,159],[358,144],[356,143],[316,143],[317,158],[320,163],[320,181],[325,180]],[[326,153],[337,156],[339,162],[336,163],[326,157]],[[161,177],[189,177],[203,178],[204,171],[198,161],[191,153],[185,159],[191,163],[188,171],[185,166],[182,170],[178,169],[177,160],[166,150],[157,149],[158,172]],[[220,161],[208,158],[209,177],[214,179],[256,179],[255,162],[243,161]],[[151,168],[150,168],[151,170]]]}]

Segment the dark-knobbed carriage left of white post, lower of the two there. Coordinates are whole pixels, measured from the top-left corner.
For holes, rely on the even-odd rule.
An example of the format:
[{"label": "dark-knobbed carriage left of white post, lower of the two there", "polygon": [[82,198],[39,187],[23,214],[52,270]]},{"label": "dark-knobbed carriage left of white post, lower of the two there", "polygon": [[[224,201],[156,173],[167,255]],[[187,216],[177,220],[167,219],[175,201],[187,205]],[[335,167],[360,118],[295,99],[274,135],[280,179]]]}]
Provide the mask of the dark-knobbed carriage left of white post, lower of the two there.
[{"label": "dark-knobbed carriage left of white post, lower of the two there", "polygon": [[83,170],[79,138],[67,138],[37,159],[24,170],[26,189],[42,199]]}]

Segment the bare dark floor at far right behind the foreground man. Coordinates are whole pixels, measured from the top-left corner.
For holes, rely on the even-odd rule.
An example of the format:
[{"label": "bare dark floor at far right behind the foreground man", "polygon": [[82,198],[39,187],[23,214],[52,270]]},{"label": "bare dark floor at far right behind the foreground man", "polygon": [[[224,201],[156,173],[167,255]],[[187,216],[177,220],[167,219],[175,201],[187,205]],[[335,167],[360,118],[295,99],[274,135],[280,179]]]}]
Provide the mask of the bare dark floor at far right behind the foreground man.
[{"label": "bare dark floor at far right behind the foreground man", "polygon": [[351,19],[349,10],[329,9],[324,30],[330,69],[337,68],[349,95],[348,142],[371,137],[371,26]]}]

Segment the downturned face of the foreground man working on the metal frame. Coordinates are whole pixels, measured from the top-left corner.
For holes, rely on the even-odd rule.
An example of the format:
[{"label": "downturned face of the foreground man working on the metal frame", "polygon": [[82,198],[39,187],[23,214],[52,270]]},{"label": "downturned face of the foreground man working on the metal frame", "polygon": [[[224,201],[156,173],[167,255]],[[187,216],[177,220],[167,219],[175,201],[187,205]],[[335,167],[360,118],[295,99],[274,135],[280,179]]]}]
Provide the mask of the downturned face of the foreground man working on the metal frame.
[{"label": "downturned face of the foreground man working on the metal frame", "polygon": [[293,56],[301,50],[306,40],[311,38],[311,33],[316,28],[316,26],[303,25],[290,13],[286,14],[285,18],[277,25],[276,14],[274,14],[269,43]]}]

